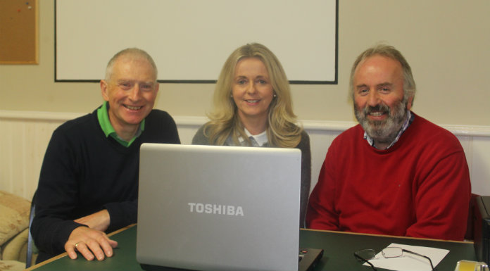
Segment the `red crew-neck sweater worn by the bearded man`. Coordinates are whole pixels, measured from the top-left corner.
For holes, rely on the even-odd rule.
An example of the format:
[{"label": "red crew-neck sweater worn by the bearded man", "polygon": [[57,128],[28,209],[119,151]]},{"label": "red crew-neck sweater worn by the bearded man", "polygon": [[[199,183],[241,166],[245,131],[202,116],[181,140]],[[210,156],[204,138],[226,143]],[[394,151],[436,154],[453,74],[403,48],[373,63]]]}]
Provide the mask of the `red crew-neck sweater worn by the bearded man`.
[{"label": "red crew-neck sweater worn by the bearded man", "polygon": [[332,142],[307,227],[463,240],[471,184],[458,139],[418,115],[388,150],[363,134],[356,125]]}]

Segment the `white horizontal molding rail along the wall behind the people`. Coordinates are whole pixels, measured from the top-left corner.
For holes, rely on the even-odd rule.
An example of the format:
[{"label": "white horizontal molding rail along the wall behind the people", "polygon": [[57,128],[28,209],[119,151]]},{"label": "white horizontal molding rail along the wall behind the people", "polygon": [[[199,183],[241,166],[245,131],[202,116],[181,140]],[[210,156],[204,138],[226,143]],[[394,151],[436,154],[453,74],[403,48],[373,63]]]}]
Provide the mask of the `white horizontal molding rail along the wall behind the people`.
[{"label": "white horizontal molding rail along the wall behind the people", "polygon": [[[6,111],[0,110],[1,119],[63,121],[80,117],[84,113],[45,112],[45,111]],[[199,116],[172,116],[177,125],[200,126],[208,118]],[[300,120],[306,130],[328,130],[341,132],[357,124],[354,121]],[[484,125],[439,125],[457,136],[490,137],[490,126]]]}]

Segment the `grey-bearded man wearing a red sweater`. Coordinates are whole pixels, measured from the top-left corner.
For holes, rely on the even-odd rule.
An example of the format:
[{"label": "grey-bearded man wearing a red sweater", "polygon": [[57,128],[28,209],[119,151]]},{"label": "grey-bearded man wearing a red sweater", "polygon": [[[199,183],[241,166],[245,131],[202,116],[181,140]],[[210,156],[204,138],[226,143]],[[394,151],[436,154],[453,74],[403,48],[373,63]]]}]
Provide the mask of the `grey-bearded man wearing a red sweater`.
[{"label": "grey-bearded man wearing a red sweater", "polygon": [[358,56],[351,95],[359,125],[329,147],[306,225],[463,240],[470,174],[458,139],[410,111],[415,81],[392,46]]}]

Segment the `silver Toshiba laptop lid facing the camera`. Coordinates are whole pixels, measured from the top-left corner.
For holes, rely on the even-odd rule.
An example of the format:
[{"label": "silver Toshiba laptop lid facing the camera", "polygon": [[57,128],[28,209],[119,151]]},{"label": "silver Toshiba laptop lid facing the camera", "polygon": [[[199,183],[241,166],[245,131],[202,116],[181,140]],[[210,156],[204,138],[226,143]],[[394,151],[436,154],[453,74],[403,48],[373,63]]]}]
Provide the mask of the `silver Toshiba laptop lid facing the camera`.
[{"label": "silver Toshiba laptop lid facing the camera", "polygon": [[301,151],[142,144],[137,260],[298,270]]}]

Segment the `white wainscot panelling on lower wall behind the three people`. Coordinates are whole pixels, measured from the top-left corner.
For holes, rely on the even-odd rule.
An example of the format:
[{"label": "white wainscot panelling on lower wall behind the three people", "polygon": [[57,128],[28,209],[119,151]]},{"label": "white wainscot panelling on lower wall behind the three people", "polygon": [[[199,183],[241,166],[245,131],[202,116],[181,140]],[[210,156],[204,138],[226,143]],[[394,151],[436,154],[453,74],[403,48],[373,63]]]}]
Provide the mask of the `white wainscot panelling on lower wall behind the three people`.
[{"label": "white wainscot panelling on lower wall behind the three people", "polygon": [[[44,151],[52,132],[80,113],[0,111],[0,189],[32,198],[37,188]],[[182,144],[191,144],[203,117],[174,117]],[[302,121],[310,135],[311,189],[315,187],[332,140],[355,122]],[[475,194],[490,195],[490,127],[442,125],[460,140],[467,157]]]}]

